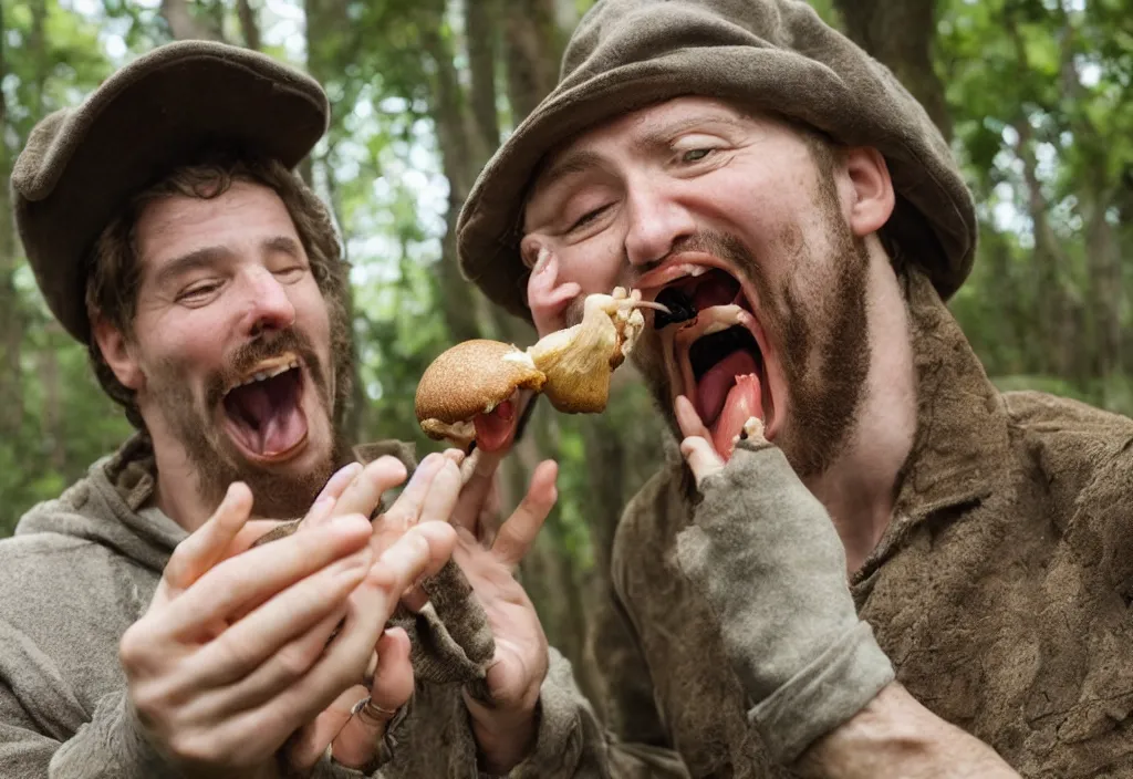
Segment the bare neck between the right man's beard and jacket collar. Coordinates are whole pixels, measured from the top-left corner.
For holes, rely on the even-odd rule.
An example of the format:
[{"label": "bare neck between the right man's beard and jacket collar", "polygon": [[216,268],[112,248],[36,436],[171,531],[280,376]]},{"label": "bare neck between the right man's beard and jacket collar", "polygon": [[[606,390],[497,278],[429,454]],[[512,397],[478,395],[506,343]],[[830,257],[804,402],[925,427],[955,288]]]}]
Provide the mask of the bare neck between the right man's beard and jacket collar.
[{"label": "bare neck between the right man's beard and jacket collar", "polygon": [[880,541],[893,515],[897,478],[917,433],[917,385],[909,315],[880,247],[870,251],[870,367],[858,425],[845,451],[807,487],[837,528],[854,572]]}]

